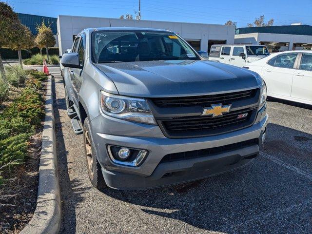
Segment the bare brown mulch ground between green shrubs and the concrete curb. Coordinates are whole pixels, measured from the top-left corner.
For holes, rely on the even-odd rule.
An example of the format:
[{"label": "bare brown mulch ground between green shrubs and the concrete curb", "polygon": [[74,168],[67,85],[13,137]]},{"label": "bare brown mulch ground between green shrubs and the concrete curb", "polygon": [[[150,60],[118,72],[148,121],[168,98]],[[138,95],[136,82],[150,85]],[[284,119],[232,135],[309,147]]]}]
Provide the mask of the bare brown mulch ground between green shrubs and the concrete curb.
[{"label": "bare brown mulch ground between green shrubs and the concrete curb", "polygon": [[[40,90],[43,99],[46,84],[42,82]],[[20,90],[11,91],[10,98],[2,106],[10,104]],[[25,163],[12,168],[9,172],[12,178],[0,186],[0,233],[17,234],[33,217],[37,205],[42,128],[43,121],[30,138]]]}]

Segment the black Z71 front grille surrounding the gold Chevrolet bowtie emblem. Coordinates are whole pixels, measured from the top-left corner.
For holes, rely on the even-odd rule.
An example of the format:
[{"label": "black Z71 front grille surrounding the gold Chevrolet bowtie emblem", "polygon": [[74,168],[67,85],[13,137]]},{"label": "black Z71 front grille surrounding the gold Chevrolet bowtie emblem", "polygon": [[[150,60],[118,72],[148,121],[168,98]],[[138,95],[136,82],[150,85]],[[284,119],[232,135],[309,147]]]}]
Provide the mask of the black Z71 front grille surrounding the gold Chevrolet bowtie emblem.
[{"label": "black Z71 front grille surrounding the gold Chevrolet bowtie emblem", "polygon": [[[151,98],[149,104],[168,138],[205,137],[233,132],[254,124],[260,89],[198,97]],[[220,117],[202,116],[205,107],[229,105]],[[242,116],[241,114],[247,114]]]}]

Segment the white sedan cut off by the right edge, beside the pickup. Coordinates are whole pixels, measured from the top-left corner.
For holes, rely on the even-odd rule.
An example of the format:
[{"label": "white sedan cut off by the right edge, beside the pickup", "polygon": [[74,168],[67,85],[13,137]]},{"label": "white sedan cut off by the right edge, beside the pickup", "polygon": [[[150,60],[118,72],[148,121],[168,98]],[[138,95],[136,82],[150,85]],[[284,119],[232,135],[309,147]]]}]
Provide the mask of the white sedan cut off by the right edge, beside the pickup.
[{"label": "white sedan cut off by the right edge, beside the pickup", "polygon": [[279,52],[244,68],[263,78],[268,96],[312,105],[312,51]]}]

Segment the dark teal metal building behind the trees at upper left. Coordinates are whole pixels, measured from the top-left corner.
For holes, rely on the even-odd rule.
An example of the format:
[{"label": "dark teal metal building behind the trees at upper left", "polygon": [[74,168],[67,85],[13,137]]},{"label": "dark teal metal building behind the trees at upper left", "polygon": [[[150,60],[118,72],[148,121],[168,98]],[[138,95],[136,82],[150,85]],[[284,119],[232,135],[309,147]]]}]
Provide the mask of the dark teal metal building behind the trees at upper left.
[{"label": "dark teal metal building behind the trees at upper left", "polygon": [[42,20],[45,25],[50,25],[53,35],[56,35],[58,32],[57,29],[57,18],[46,17],[46,16],[36,16],[29,14],[18,13],[20,22],[26,25],[33,35],[37,35],[37,25],[41,24]]}]

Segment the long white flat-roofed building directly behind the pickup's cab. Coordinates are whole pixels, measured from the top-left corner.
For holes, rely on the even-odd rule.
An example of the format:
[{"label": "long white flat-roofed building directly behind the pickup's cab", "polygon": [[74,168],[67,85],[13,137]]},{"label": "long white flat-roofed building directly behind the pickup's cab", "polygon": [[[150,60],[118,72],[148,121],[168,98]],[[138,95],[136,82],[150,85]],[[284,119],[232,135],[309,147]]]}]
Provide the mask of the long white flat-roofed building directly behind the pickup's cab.
[{"label": "long white flat-roofed building directly behind the pickup's cab", "polygon": [[209,51],[213,44],[234,44],[235,26],[231,25],[59,16],[59,53],[71,48],[76,35],[83,29],[110,26],[167,29],[186,39],[195,50]]}]

